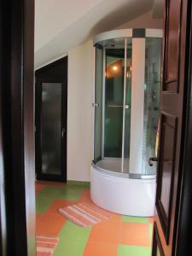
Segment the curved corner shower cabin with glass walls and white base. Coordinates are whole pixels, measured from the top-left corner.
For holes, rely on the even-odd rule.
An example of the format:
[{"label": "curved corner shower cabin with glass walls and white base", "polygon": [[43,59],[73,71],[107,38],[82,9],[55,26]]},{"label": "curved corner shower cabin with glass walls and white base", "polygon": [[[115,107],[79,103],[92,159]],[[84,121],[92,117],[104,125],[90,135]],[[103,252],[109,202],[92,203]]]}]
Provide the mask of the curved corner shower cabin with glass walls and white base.
[{"label": "curved corner shower cabin with glass walls and white base", "polygon": [[[96,205],[152,216],[156,189],[162,31],[127,29],[96,36],[94,160]],[[125,203],[127,202],[127,203]]]}]

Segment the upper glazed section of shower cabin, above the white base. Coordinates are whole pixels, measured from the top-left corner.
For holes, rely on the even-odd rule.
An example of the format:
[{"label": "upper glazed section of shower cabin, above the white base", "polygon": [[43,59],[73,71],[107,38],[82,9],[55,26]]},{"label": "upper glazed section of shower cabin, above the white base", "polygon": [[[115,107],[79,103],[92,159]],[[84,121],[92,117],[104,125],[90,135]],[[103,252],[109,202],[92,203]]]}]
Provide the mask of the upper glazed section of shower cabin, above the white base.
[{"label": "upper glazed section of shower cabin, above the white base", "polygon": [[[158,32],[157,32],[158,34]],[[96,42],[94,164],[129,177],[155,175],[160,36]]]}]

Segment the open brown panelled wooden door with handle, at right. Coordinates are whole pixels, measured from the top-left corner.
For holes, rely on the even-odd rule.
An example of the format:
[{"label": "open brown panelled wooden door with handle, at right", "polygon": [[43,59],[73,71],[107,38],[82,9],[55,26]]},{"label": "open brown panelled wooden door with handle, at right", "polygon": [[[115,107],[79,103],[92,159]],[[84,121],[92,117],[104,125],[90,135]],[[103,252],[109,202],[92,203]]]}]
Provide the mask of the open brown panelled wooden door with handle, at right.
[{"label": "open brown panelled wooden door with handle, at right", "polygon": [[183,175],[183,104],[186,72],[188,4],[165,1],[165,38],[160,91],[160,147],[153,256],[175,255]]}]

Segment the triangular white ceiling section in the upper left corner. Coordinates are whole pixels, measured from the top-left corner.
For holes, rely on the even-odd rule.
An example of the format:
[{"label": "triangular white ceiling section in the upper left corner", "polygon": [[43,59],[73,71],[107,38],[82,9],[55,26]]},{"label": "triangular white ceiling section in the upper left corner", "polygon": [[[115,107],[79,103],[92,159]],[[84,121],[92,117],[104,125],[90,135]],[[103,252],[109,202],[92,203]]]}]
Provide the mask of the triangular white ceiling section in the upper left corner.
[{"label": "triangular white ceiling section in the upper left corner", "polygon": [[41,48],[102,0],[38,0],[35,9],[35,49]]}]

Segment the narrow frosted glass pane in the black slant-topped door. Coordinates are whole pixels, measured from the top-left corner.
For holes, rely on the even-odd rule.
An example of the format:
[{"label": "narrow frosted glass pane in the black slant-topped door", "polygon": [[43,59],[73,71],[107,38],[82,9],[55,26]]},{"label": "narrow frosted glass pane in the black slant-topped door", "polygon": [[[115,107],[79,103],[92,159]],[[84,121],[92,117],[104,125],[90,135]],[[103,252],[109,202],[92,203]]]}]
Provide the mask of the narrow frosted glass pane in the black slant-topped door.
[{"label": "narrow frosted glass pane in the black slant-topped door", "polygon": [[42,172],[61,173],[61,84],[42,84]]}]

